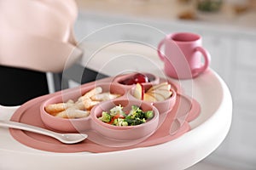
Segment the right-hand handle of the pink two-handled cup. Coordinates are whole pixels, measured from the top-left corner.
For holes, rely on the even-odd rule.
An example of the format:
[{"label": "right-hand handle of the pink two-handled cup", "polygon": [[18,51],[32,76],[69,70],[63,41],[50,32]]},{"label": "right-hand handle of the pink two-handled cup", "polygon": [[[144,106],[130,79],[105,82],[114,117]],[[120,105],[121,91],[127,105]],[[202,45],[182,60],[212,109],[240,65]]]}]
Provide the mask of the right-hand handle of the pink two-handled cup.
[{"label": "right-hand handle of the pink two-handled cup", "polygon": [[204,65],[202,65],[200,68],[196,68],[192,71],[192,74],[200,74],[201,72],[206,71],[207,68],[209,67],[210,62],[211,62],[211,54],[209,54],[207,49],[201,48],[201,47],[196,47],[195,51],[201,52],[201,54],[203,55],[203,57],[205,59]]}]

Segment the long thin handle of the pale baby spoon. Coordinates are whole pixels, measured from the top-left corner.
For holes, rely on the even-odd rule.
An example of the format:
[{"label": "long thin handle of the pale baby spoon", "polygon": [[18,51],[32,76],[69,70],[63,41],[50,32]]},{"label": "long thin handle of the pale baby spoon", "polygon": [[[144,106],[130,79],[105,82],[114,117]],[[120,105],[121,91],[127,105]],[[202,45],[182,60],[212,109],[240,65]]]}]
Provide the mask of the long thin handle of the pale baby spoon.
[{"label": "long thin handle of the pale baby spoon", "polygon": [[35,127],[32,125],[28,125],[25,123],[21,123],[21,122],[11,122],[11,121],[2,121],[0,120],[0,127],[11,127],[11,128],[17,128],[20,130],[26,130],[26,131],[30,131],[33,133],[40,133],[40,134],[44,134],[50,137],[55,138],[55,132],[49,131],[47,129],[41,128],[41,127]]}]

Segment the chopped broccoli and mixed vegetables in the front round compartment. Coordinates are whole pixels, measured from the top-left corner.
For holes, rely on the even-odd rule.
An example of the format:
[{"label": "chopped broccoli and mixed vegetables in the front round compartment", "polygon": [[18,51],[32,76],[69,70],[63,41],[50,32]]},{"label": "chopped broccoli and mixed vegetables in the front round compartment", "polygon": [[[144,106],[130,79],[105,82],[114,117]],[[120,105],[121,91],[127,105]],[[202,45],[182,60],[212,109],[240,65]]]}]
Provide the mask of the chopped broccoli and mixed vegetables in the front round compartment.
[{"label": "chopped broccoli and mixed vegetables in the front round compartment", "polygon": [[147,122],[154,117],[154,111],[143,111],[137,105],[131,105],[131,110],[123,111],[123,106],[114,106],[110,111],[102,111],[102,116],[98,117],[102,122],[113,126],[136,126]]}]

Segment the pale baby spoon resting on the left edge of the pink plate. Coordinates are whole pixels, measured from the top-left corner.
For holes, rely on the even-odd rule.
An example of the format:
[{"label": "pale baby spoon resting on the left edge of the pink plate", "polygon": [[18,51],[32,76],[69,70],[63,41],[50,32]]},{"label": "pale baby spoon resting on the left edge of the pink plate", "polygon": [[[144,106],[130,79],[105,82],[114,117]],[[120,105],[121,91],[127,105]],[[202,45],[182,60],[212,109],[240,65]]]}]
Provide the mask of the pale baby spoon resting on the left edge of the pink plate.
[{"label": "pale baby spoon resting on the left edge of the pink plate", "polygon": [[88,135],[84,133],[55,133],[53,131],[49,131],[41,127],[34,127],[32,125],[27,125],[25,123],[20,123],[20,122],[0,120],[0,127],[11,127],[11,128],[17,128],[20,130],[30,131],[33,133],[44,134],[46,136],[50,136],[52,138],[58,139],[64,144],[76,144],[88,137]]}]

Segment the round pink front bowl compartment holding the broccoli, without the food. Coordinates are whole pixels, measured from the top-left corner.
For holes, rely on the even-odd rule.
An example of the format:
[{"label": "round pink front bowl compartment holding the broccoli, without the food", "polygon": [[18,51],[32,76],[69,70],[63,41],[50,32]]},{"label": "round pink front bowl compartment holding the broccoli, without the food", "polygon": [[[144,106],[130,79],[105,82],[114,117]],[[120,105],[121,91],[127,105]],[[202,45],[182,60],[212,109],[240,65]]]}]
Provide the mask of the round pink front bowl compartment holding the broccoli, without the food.
[{"label": "round pink front bowl compartment holding the broccoli, without the food", "polygon": [[[113,126],[98,119],[98,117],[102,116],[102,111],[110,111],[116,105],[122,105],[124,111],[130,111],[131,105],[138,105],[143,111],[154,111],[154,117],[143,124],[127,127]],[[102,133],[103,136],[110,139],[133,140],[142,139],[154,133],[159,122],[159,111],[153,105],[139,100],[116,99],[96,105],[92,109],[91,118],[93,122],[91,124],[92,128]]]}]

